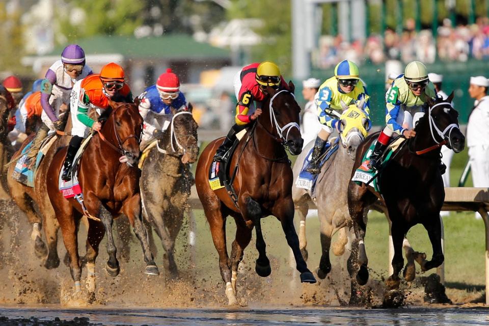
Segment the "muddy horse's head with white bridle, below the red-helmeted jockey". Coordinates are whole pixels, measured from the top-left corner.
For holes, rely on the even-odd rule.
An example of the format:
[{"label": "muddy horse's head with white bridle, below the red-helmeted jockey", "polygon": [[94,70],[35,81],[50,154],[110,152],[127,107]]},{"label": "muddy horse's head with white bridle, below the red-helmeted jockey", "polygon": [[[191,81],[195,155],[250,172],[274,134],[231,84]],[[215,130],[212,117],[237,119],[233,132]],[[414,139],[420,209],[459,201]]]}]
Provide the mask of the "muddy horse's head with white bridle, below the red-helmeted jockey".
[{"label": "muddy horse's head with white bridle, below the red-helmeted jockey", "polygon": [[188,103],[184,110],[172,109],[172,148],[182,153],[182,163],[193,163],[199,155],[199,144],[197,142],[197,128],[199,125],[192,115],[192,104]]}]

